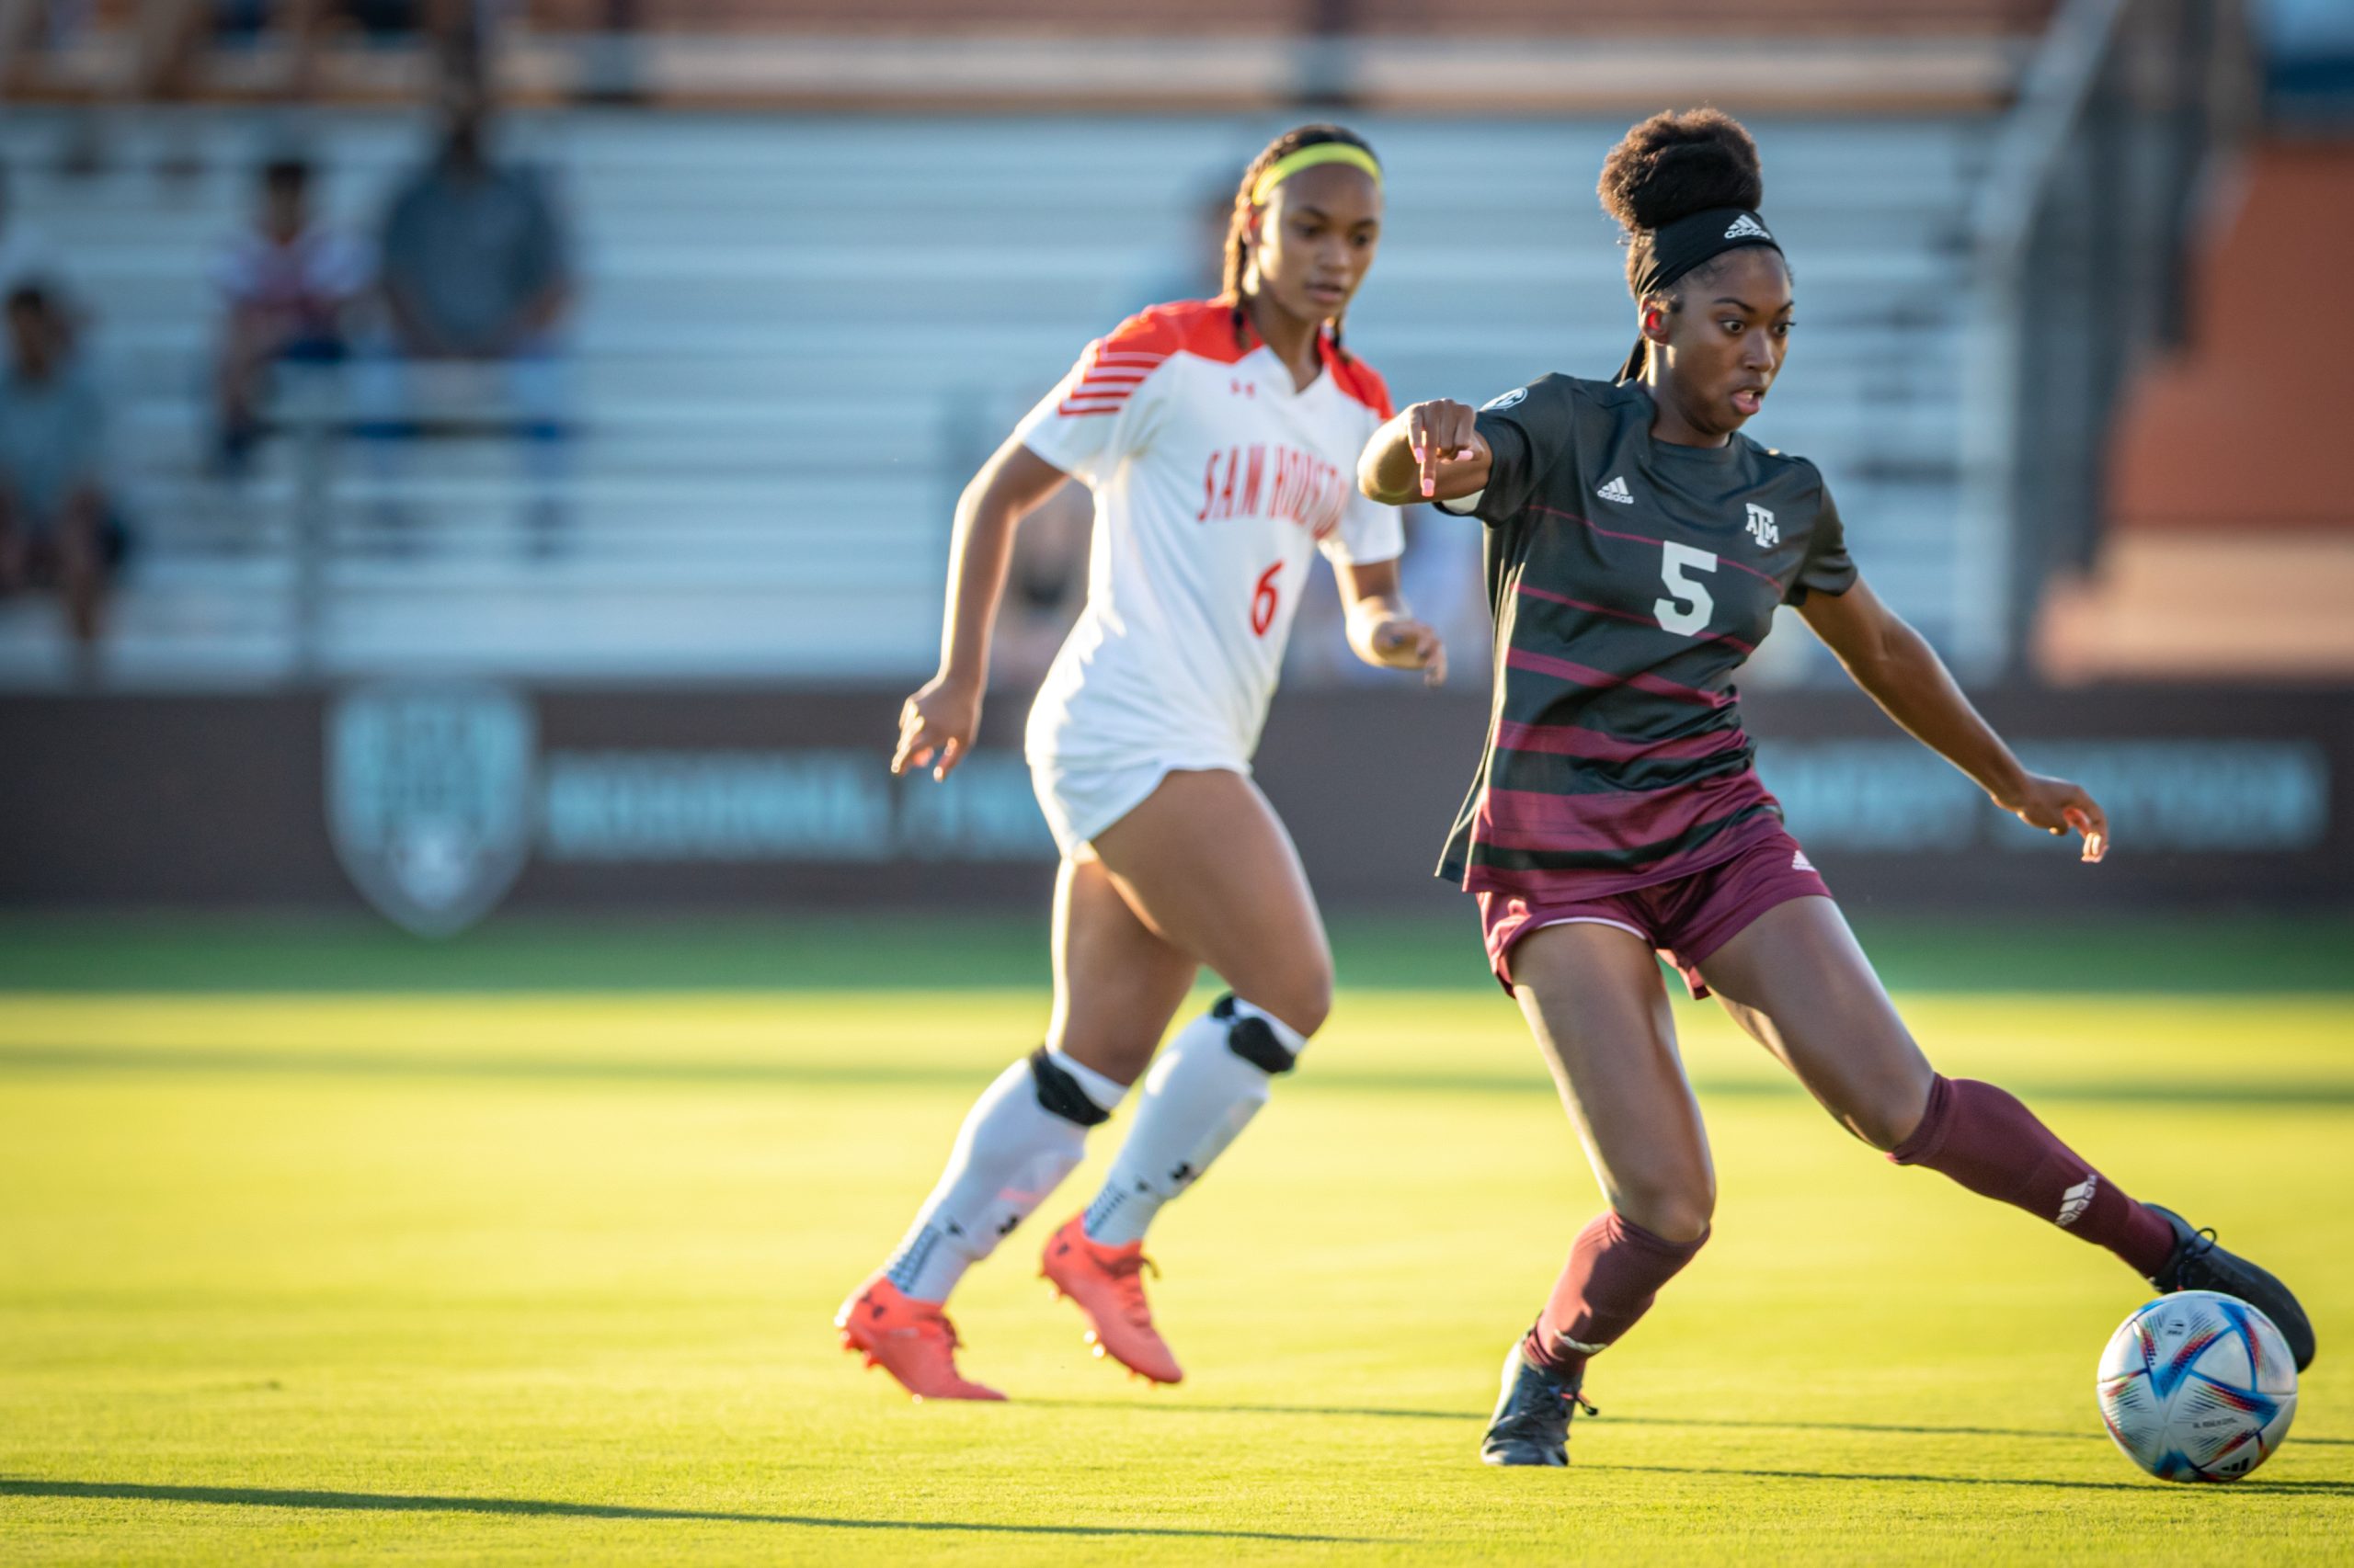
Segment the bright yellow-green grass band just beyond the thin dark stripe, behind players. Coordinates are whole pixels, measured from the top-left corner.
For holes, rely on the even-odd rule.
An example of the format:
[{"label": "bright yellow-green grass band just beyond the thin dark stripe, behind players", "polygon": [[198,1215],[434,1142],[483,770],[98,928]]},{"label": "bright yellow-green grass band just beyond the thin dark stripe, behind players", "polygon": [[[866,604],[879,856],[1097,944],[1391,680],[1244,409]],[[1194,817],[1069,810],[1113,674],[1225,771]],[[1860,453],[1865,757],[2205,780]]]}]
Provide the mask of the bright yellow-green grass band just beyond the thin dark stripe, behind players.
[{"label": "bright yellow-green grass band just beyond the thin dark stripe, behind players", "polygon": [[[1681,986],[1678,986],[1681,991]],[[1198,989],[1179,1022],[1208,1003]],[[2330,1109],[2354,1097],[2354,998],[1900,994],[1947,1074],[2064,1099]],[[972,1090],[1038,1041],[1048,998],[965,994],[0,996],[0,1071],[612,1078]],[[1714,1003],[1676,1001],[1711,1095],[1791,1078]],[[1551,1092],[1499,991],[1342,994],[1290,1092]]]}]

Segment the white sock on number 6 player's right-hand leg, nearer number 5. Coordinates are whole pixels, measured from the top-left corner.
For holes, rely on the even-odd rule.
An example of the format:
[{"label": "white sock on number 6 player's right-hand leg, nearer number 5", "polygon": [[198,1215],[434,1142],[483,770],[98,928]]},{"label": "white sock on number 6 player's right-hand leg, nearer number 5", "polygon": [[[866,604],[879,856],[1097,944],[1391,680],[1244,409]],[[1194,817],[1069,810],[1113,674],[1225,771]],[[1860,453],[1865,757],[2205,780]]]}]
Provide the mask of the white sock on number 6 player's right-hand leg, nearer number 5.
[{"label": "white sock on number 6 player's right-hand leg, nearer number 5", "polygon": [[1231,1045],[1233,1031],[1252,1022],[1264,1024],[1283,1055],[1297,1057],[1306,1045],[1283,1019],[1231,998],[1179,1029],[1144,1074],[1135,1125],[1104,1191],[1088,1205],[1090,1241],[1142,1241],[1161,1205],[1198,1182],[1266,1104],[1274,1074]]}]

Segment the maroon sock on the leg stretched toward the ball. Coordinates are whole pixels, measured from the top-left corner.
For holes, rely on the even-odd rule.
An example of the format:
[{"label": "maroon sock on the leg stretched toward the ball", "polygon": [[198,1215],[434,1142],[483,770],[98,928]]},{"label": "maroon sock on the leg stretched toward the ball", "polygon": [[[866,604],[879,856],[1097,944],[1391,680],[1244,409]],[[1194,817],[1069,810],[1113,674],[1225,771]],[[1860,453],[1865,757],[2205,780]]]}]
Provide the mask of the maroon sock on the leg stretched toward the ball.
[{"label": "maroon sock on the leg stretched toward the ball", "polygon": [[1895,1154],[2001,1203],[2041,1215],[2072,1236],[2109,1248],[2149,1278],[2175,1250],[2175,1231],[2083,1163],[2013,1095],[1975,1078],[1940,1076],[1921,1125]]}]

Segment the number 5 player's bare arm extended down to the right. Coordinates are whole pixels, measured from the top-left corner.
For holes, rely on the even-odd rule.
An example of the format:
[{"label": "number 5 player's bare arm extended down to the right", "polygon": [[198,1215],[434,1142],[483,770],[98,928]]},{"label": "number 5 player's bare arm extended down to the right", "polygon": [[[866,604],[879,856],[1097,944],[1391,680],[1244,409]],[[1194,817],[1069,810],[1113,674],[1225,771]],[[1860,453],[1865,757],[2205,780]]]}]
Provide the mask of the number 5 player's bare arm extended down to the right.
[{"label": "number 5 player's bare arm extended down to the right", "polygon": [[2083,833],[2083,859],[2109,852],[2109,817],[2081,784],[2027,772],[1954,673],[1904,617],[1855,579],[1846,593],[1808,593],[1798,607],[1808,629],[1838,655],[1855,685],[1923,746],[1970,775],[1994,803],[2046,833]]}]

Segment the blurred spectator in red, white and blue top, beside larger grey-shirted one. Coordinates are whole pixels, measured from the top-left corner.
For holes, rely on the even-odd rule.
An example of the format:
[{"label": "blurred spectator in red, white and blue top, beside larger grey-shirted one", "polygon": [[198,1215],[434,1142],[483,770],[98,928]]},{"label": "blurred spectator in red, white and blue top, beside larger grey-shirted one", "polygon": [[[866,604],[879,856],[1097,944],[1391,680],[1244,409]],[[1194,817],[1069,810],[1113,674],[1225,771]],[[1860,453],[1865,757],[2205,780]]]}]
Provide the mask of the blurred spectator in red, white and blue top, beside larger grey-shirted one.
[{"label": "blurred spectator in red, white and blue top, beside larger grey-shirted one", "polygon": [[257,221],[214,266],[224,308],[214,379],[224,473],[245,469],[275,365],[344,358],[351,308],[367,273],[367,252],[313,217],[311,165],[301,158],[266,162]]}]

